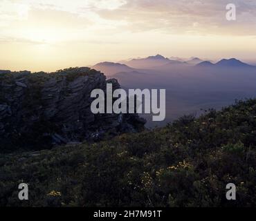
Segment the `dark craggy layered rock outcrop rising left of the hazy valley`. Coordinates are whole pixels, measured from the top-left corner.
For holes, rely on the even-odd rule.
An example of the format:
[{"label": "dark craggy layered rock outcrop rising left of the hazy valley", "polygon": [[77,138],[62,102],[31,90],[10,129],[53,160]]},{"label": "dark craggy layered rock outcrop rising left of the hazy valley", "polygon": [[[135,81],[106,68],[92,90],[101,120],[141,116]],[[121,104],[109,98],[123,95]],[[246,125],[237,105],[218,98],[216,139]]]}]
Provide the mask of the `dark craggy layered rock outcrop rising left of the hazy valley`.
[{"label": "dark craggy layered rock outcrop rising left of the hazy valley", "polygon": [[91,90],[120,88],[90,68],[69,68],[57,73],[28,71],[0,75],[0,151],[51,148],[53,144],[100,140],[140,131],[138,115],[91,113]]}]

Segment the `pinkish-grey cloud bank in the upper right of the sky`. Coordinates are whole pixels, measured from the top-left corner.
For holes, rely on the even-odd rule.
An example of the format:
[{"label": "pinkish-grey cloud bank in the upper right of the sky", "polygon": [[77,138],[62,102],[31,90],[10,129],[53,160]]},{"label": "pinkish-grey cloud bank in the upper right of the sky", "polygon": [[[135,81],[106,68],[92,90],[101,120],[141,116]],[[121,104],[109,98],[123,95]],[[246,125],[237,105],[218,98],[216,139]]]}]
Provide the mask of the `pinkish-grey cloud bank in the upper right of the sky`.
[{"label": "pinkish-grey cloud bank in the upper right of the sky", "polygon": [[[98,10],[103,19],[125,21],[131,31],[255,35],[256,2],[233,0],[237,21],[226,20],[229,0],[130,0],[116,10]],[[196,24],[196,26],[194,25]]]}]

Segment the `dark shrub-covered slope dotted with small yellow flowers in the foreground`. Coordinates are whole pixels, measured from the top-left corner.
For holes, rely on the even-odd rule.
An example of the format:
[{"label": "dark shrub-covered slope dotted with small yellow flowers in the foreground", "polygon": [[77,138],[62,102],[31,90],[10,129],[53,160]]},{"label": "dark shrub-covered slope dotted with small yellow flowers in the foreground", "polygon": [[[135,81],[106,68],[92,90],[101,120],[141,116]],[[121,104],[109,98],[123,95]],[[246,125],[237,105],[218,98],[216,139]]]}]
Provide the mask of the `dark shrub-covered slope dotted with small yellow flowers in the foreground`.
[{"label": "dark shrub-covered slope dotted with small yellow flowers in the foreground", "polygon": [[[0,155],[2,206],[255,206],[256,99],[112,140]],[[29,184],[30,200],[17,199]],[[237,200],[226,200],[226,184]]]}]

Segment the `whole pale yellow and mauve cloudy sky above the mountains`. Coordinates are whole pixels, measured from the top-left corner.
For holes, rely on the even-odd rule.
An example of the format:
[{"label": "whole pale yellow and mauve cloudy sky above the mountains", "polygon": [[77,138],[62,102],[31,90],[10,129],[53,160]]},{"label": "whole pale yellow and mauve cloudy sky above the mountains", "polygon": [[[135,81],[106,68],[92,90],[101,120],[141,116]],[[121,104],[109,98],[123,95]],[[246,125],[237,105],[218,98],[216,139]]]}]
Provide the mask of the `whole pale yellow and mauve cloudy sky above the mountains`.
[{"label": "whole pale yellow and mauve cloudy sky above the mountains", "polygon": [[[237,19],[226,19],[226,5]],[[256,64],[255,0],[0,0],[0,69],[55,71],[147,57]]]}]

